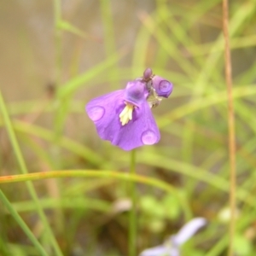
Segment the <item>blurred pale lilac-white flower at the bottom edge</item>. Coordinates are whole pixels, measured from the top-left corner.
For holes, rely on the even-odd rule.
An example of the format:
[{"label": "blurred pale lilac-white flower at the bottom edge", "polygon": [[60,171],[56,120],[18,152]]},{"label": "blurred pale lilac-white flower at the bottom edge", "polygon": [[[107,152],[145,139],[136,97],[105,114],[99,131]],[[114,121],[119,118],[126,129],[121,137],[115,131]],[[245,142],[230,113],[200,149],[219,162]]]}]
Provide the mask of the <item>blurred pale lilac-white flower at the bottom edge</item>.
[{"label": "blurred pale lilac-white flower at the bottom edge", "polygon": [[195,232],[207,224],[205,218],[193,218],[176,235],[172,235],[164,244],[144,250],[139,256],[179,256],[179,247]]}]

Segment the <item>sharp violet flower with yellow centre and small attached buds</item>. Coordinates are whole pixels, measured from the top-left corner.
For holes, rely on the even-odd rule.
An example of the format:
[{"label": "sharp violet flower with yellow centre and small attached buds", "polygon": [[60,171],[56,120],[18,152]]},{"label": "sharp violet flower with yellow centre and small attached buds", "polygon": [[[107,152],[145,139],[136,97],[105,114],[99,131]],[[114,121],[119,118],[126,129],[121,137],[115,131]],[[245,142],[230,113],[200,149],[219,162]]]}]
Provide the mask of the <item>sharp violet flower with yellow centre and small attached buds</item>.
[{"label": "sharp violet flower with yellow centre and small attached buds", "polygon": [[127,83],[124,90],[93,99],[85,109],[102,139],[131,150],[159,142],[160,131],[151,108],[160,103],[160,96],[171,93],[172,84],[148,68],[143,78]]}]

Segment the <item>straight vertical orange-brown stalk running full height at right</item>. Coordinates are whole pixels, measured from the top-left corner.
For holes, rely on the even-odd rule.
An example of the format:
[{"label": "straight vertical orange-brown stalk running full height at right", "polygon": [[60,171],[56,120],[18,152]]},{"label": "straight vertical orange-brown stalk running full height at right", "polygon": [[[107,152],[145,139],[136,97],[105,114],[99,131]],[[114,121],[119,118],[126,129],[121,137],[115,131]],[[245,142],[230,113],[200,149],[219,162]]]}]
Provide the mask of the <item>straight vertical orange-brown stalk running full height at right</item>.
[{"label": "straight vertical orange-brown stalk running full height at right", "polygon": [[225,79],[228,91],[228,122],[229,122],[229,152],[230,152],[230,243],[229,256],[234,255],[234,236],[236,230],[236,133],[235,115],[232,95],[232,68],[229,37],[229,5],[223,0],[223,29],[224,29],[224,56]]}]

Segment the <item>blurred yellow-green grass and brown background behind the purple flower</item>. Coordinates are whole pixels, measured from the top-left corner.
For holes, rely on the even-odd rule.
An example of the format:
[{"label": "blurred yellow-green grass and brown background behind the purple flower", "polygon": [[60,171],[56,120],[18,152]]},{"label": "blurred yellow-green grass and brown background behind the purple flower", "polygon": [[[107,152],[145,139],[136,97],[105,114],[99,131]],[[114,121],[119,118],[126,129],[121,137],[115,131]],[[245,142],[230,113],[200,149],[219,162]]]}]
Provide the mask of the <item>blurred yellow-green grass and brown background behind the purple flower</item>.
[{"label": "blurred yellow-green grass and brown background behind the purple flower", "polygon": [[[97,137],[84,104],[152,67],[174,90],[154,109],[160,143],[137,149],[137,173],[154,179],[137,183],[138,252],[201,216],[207,227],[183,245],[183,255],[226,255],[230,177],[221,1],[15,0],[0,3],[0,17],[0,176],[128,172],[130,153]],[[241,256],[256,252],[255,24],[255,0],[230,1],[235,251]],[[127,186],[104,174],[1,183],[0,255],[127,255]]]}]

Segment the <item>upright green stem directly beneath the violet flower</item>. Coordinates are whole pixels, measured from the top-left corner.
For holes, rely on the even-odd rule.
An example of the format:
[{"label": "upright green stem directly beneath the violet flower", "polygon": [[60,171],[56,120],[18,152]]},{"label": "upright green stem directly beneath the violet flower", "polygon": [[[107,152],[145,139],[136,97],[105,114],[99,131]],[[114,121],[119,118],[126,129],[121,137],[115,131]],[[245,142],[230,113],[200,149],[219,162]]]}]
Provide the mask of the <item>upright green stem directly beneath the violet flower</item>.
[{"label": "upright green stem directly beneath the violet flower", "polygon": [[[135,174],[135,149],[131,150],[130,174]],[[129,256],[136,256],[136,183],[131,181],[129,192],[131,195],[131,211],[129,216]]]}]

